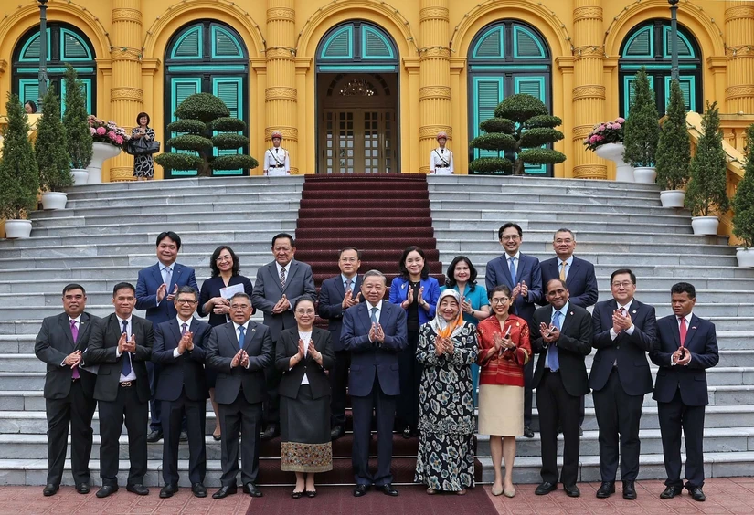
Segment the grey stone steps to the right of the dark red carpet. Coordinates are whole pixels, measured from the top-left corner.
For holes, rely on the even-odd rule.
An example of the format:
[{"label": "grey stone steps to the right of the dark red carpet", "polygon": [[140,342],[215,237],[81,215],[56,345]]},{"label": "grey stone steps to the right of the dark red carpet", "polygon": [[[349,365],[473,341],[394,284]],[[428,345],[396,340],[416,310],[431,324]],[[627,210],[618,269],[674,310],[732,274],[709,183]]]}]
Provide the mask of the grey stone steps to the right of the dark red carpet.
[{"label": "grey stone steps to the right of the dark red carpet", "polygon": [[[670,287],[696,286],[698,316],[715,322],[720,362],[707,371],[707,477],[750,475],[754,468],[754,270],[736,268],[727,237],[694,236],[689,213],[663,208],[653,184],[536,179],[532,177],[430,176],[430,207],[440,260],[447,267],[463,254],[484,283],[485,263],[501,254],[497,228],[515,221],[524,230],[522,252],[553,257],[560,227],[576,233],[576,255],[595,265],[600,300],[611,298],[610,274],[632,268],[636,297],[653,304],[658,318],[671,313]],[[593,354],[592,354],[593,355]],[[591,356],[587,358],[587,366]],[[653,374],[656,367],[653,365]],[[591,395],[586,399],[580,478],[599,481],[598,426]],[[535,413],[536,426],[536,413]],[[657,406],[645,398],[641,425],[640,478],[664,478]],[[560,438],[562,446],[562,436]],[[520,438],[516,482],[538,482],[538,433]],[[562,451],[562,448],[561,448]],[[489,440],[479,436],[484,480],[492,480]]]}]

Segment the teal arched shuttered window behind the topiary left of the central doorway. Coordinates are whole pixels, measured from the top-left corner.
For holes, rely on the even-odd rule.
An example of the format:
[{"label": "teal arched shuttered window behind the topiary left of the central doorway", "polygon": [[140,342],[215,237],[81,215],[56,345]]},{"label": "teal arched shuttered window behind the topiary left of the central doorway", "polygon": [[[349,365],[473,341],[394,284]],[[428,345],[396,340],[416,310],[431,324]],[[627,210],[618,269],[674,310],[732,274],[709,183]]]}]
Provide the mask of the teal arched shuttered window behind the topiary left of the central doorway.
[{"label": "teal arched shuttered window behind the topiary left of the central doorway", "polygon": [[[203,20],[179,29],[165,48],[165,140],[167,124],[180,103],[195,93],[211,93],[222,99],[230,116],[249,124],[249,54],[232,27]],[[248,135],[248,130],[247,130]],[[165,145],[165,152],[171,152]],[[177,152],[177,151],[173,151]],[[219,154],[218,154],[219,152]],[[215,155],[247,153],[248,148],[215,150]],[[217,170],[213,175],[245,175],[247,170]],[[196,175],[196,170],[171,170],[167,177]]]}]

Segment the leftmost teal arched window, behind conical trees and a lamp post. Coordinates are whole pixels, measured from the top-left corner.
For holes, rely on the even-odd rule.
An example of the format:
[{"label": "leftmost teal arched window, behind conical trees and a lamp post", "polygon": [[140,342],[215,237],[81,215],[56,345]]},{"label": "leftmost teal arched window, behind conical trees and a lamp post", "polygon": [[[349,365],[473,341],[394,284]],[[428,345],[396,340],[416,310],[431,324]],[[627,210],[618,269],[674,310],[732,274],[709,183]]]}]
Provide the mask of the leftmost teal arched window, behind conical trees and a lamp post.
[{"label": "leftmost teal arched window, behind conical trees and a lamp post", "polygon": [[[48,84],[53,84],[65,110],[66,64],[79,74],[86,93],[87,110],[96,114],[97,63],[89,37],[75,26],[65,23],[48,23]],[[13,50],[13,76],[11,89],[21,102],[39,98],[39,26],[27,31]]]}]

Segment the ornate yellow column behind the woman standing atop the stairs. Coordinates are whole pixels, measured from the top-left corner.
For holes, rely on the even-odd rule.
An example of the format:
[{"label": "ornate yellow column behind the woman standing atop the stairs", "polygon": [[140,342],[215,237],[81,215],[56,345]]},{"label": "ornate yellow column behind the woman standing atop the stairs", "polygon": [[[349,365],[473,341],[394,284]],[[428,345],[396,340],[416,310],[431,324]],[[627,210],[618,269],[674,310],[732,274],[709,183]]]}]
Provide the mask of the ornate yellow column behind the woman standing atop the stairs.
[{"label": "ornate yellow column behind the woman standing atop the stairs", "polygon": [[[102,113],[100,118],[110,118],[130,131],[143,111],[141,0],[112,0],[111,41],[110,116]],[[131,156],[121,152],[110,164],[111,182],[133,181]]]}]

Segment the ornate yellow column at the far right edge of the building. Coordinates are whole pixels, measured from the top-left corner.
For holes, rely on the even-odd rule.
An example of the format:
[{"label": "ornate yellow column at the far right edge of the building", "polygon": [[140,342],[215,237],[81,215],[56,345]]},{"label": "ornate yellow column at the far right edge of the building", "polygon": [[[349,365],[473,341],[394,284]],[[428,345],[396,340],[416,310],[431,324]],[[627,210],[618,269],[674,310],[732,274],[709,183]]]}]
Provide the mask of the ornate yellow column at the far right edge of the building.
[{"label": "ornate yellow column at the far right edge of the building", "polygon": [[728,1],[725,10],[726,110],[754,114],[754,5]]}]

